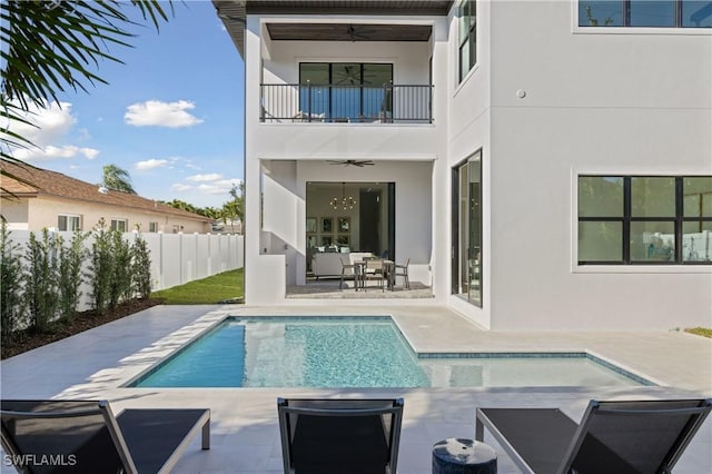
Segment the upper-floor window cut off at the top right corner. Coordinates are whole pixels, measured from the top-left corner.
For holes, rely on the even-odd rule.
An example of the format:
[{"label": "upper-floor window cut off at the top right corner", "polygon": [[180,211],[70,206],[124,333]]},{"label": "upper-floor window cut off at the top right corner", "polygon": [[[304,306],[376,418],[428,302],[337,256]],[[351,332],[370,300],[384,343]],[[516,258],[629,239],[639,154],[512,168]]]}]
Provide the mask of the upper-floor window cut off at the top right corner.
[{"label": "upper-floor window cut off at the top right corner", "polygon": [[712,28],[712,1],[578,0],[578,26]]}]

